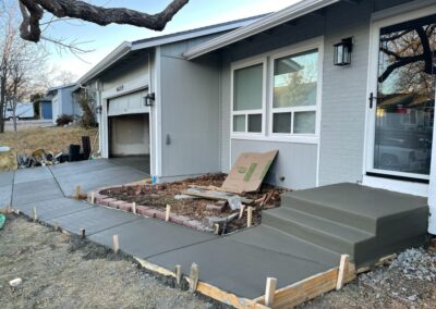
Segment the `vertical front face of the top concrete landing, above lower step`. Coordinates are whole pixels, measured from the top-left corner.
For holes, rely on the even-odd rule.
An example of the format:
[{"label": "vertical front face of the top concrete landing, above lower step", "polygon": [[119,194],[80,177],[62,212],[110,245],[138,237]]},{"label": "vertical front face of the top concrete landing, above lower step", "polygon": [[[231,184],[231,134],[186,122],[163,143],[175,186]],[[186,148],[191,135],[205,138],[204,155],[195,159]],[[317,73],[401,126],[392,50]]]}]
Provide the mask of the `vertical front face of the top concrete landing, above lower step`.
[{"label": "vertical front face of the top concrete landing, above lower step", "polygon": [[295,193],[286,193],[281,196],[281,208],[299,210],[372,234],[375,234],[377,231],[376,218],[354,212],[349,208],[336,208],[330,205],[323,205],[318,200],[312,201],[311,199],[306,199],[305,196],[295,195]]}]

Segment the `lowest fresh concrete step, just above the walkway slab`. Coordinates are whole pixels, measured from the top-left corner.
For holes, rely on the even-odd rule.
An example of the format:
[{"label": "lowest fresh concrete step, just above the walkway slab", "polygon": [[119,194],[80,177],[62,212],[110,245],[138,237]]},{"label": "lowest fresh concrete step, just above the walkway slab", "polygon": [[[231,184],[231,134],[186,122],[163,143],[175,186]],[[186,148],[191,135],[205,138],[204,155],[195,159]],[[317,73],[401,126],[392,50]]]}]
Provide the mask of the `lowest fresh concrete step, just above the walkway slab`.
[{"label": "lowest fresh concrete step, just above the walkway slab", "polygon": [[286,207],[264,211],[262,221],[266,226],[277,228],[339,255],[348,254],[352,258],[360,246],[364,246],[365,243],[375,237],[374,234],[366,231]]}]

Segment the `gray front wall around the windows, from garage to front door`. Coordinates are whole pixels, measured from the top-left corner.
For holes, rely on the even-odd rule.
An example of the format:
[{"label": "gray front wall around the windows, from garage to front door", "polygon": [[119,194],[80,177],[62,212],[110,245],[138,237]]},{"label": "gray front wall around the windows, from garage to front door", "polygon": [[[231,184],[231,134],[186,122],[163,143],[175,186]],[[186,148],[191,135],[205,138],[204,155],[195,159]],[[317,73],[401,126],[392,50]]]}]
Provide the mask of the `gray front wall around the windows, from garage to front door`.
[{"label": "gray front wall around the windows, from garage to front door", "polygon": [[[303,188],[316,185],[316,145],[269,141],[230,141],[230,63],[278,48],[324,36],[322,126],[318,184],[362,180],[365,107],[368,69],[368,38],[372,12],[405,3],[404,0],[340,2],[324,10],[324,16],[308,15],[295,24],[282,25],[225,49],[221,69],[221,171],[228,172],[242,151],[280,149],[275,177],[287,177],[286,186]],[[332,64],[332,45],[353,37],[352,65]],[[231,158],[229,145],[231,144]]]}]

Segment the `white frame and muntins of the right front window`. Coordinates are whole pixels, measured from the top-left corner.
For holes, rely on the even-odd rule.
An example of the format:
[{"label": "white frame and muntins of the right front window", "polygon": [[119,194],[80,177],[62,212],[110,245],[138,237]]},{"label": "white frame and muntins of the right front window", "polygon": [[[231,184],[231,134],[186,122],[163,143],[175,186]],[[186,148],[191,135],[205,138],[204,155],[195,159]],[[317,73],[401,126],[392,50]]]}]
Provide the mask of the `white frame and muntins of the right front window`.
[{"label": "white frame and muntins of the right front window", "polygon": [[[322,82],[323,82],[323,54],[324,54],[324,40],[317,39],[315,41],[310,41],[306,44],[301,44],[298,46],[291,46],[287,50],[281,50],[279,52],[271,53],[269,59],[269,75],[270,78],[270,87],[268,94],[268,106],[269,106],[269,134],[271,139],[279,138],[281,140],[298,140],[295,138],[302,138],[308,140],[318,140],[319,139],[319,131],[320,131],[320,101],[322,101]],[[274,64],[277,59],[299,54],[305,51],[317,50],[318,52],[318,64],[317,64],[317,82],[316,82],[316,104],[307,106],[307,107],[289,107],[289,108],[274,108]],[[295,112],[305,112],[305,111],[314,111],[315,112],[315,133],[314,134],[302,134],[302,133],[293,133],[294,126],[294,113]],[[274,114],[275,113],[286,113],[291,112],[291,133],[274,133]]]}]

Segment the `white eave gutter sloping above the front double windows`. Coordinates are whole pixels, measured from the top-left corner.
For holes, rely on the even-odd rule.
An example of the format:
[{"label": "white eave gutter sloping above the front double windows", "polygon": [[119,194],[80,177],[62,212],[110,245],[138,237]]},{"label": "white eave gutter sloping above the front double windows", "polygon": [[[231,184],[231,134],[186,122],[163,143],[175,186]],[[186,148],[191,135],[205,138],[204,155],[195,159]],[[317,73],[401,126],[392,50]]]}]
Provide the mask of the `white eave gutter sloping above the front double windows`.
[{"label": "white eave gutter sloping above the front double windows", "polygon": [[202,54],[208,53],[210,51],[220,49],[258,33],[274,28],[278,25],[310,14],[325,7],[335,4],[339,1],[341,0],[302,0],[281,11],[269,14],[264,18],[258,20],[257,22],[251,23],[246,26],[234,29],[207,42],[201,44],[187,50],[185,53],[183,53],[183,55],[189,60],[197,58]]}]

